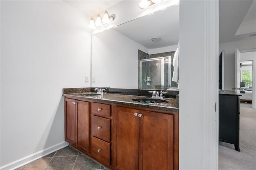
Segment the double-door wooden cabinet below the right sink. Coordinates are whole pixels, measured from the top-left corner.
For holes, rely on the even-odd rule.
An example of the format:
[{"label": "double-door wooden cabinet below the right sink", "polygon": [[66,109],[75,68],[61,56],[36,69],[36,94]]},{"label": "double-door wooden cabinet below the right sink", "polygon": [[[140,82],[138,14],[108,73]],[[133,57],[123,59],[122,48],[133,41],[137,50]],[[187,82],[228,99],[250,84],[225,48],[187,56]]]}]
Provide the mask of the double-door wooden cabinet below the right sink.
[{"label": "double-door wooden cabinet below the right sink", "polygon": [[116,169],[178,169],[177,115],[126,107],[115,111]]}]

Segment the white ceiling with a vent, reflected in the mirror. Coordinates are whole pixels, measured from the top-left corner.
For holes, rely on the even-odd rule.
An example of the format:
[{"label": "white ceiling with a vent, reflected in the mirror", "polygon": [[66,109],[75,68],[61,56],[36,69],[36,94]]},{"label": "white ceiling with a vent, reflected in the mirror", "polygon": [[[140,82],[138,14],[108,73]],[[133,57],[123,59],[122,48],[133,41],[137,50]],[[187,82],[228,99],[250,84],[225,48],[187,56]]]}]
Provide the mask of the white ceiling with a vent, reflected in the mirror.
[{"label": "white ceiling with a vent, reflected in the mirror", "polygon": [[[114,30],[148,49],[177,45],[179,41],[179,5],[170,6],[152,15],[132,20]],[[150,40],[150,38],[156,37],[160,37],[160,41]]]}]

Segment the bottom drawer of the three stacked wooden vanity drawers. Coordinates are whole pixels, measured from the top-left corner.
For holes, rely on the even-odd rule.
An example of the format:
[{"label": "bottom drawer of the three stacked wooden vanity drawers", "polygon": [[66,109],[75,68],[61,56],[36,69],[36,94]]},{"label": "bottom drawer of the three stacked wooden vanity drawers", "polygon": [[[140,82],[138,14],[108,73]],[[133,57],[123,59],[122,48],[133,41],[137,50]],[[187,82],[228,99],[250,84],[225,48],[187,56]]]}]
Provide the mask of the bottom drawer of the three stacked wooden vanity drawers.
[{"label": "bottom drawer of the three stacked wooden vanity drawers", "polygon": [[110,166],[110,143],[92,136],[91,154],[96,160]]}]

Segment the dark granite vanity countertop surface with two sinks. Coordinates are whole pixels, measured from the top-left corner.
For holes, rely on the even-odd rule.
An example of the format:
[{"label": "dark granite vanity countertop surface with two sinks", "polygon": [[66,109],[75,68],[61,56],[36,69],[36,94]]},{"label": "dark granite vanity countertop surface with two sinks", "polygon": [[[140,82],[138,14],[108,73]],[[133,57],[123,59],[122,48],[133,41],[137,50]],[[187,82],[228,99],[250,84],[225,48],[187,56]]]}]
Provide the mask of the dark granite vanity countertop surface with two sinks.
[{"label": "dark granite vanity countertop surface with two sinks", "polygon": [[[108,102],[115,104],[122,104],[128,106],[136,106],[136,107],[145,107],[150,109],[159,109],[164,111],[173,111],[179,112],[179,109],[176,106],[176,99],[164,98],[164,100],[170,101],[169,103],[142,103],[138,101],[132,101],[132,99],[136,98],[150,98],[145,96],[134,96],[134,95],[117,95],[117,94],[108,94],[104,93],[102,95],[83,95],[88,93],[71,93],[71,94],[63,94],[64,97],[72,98],[72,99],[87,99],[91,101],[98,102]],[[90,94],[90,93],[89,93]],[[96,93],[93,93],[96,94]]]}]

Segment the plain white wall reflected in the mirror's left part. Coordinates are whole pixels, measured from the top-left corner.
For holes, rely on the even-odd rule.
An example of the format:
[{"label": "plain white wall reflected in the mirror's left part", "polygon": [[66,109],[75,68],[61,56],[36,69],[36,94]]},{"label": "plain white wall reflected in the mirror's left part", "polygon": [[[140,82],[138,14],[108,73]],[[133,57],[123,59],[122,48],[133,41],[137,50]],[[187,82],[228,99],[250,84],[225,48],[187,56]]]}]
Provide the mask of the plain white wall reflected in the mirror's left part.
[{"label": "plain white wall reflected in the mirror's left part", "polygon": [[148,53],[113,29],[92,35],[92,87],[138,89],[138,49]]}]

